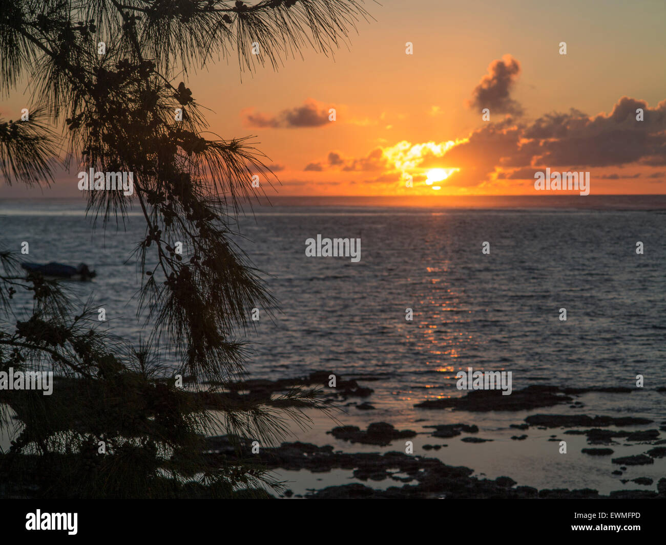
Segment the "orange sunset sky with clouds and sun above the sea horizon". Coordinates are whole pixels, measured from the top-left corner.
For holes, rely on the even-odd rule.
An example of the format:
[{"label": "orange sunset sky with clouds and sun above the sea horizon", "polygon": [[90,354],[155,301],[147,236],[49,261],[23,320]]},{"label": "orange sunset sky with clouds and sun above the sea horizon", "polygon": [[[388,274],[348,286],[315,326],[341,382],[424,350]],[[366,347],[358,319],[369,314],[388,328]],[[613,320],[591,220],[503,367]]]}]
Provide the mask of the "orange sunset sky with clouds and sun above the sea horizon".
[{"label": "orange sunset sky with clouds and sun above the sea horizon", "polygon": [[[241,81],[231,56],[185,80],[212,132],[256,135],[281,182],[269,196],[536,194],[546,167],[591,172],[591,195],[666,193],[663,0],[365,7],[376,21],[334,59],[305,50]],[[44,195],[77,196],[77,181],[63,173]]]}]

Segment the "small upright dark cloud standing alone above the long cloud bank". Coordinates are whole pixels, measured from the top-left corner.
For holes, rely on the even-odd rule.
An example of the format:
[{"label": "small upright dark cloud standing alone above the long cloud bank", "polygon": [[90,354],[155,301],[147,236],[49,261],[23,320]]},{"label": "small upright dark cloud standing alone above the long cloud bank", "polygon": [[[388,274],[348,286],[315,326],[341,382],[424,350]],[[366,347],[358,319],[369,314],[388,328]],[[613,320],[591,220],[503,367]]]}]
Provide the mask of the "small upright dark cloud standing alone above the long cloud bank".
[{"label": "small upright dark cloud standing alone above the long cloud bank", "polygon": [[470,108],[479,111],[490,108],[493,113],[506,113],[519,116],[523,112],[520,104],[510,96],[513,84],[520,75],[520,63],[504,55],[488,65],[488,74],[482,77],[479,85],[472,91],[472,99],[468,100]]}]

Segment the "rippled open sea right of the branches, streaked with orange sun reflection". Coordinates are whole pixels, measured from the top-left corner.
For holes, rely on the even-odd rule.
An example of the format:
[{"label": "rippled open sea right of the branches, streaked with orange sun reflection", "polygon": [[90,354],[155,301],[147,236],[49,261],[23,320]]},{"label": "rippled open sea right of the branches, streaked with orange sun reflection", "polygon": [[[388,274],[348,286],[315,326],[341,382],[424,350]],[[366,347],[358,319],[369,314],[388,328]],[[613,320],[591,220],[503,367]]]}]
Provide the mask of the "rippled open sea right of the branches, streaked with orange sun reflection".
[{"label": "rippled open sea right of the branches, streaked with orange sun reflection", "polygon": [[[636,373],[665,385],[665,226],[654,212],[259,215],[249,252],[276,275],[284,315],[261,324],[253,361],[381,374],[387,402],[457,393],[468,366],[513,371],[515,387],[627,386]],[[318,233],[360,237],[361,261],[307,258]]]}]

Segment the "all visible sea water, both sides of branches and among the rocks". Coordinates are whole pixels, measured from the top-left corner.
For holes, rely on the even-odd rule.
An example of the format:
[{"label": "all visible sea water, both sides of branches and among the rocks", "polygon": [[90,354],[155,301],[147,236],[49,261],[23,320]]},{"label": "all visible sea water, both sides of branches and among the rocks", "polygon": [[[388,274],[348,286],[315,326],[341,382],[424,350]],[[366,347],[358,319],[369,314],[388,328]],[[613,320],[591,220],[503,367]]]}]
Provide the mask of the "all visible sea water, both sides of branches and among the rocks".
[{"label": "all visible sea water, both sides of branches and among the rocks", "polygon": [[[583,412],[665,419],[664,395],[654,391],[666,386],[665,227],[659,210],[257,208],[255,216],[242,218],[248,240],[239,242],[272,275],[267,282],[280,309],[274,309],[274,321],[262,309],[249,339],[256,344],[248,370],[268,379],[318,370],[374,375],[379,380],[363,385],[374,389],[369,401],[377,410],[352,407],[340,417],[343,423],[364,427],[385,420],[419,431],[430,423],[476,423],[494,443],[456,441],[428,455],[489,476],[509,474],[520,484],[620,488],[609,480],[609,463],[579,454],[585,446],[575,443],[583,441],[579,437],[569,437],[577,454],[557,459],[557,443],[547,442],[554,431],[533,430],[528,441],[511,441],[515,431],[508,425],[521,422],[525,411],[470,414],[413,406],[462,395],[455,375],[468,367],[512,371],[514,390],[530,384],[633,387],[641,374],[643,391],[589,394],[581,398]],[[360,262],[306,257],[305,241],[317,234],[360,238]],[[19,250],[25,240],[30,261],[93,266],[93,282],[71,287],[83,299],[94,293],[107,309],[108,327],[134,340],[141,326],[131,299],[140,278],[130,256],[142,235],[138,214],[127,218],[127,232],[115,225],[104,232],[91,229],[79,202],[0,203],[0,246]],[[638,241],[643,255],[635,252]],[[483,242],[490,242],[490,255],[482,254]],[[567,321],[559,321],[561,307]],[[413,321],[406,321],[406,308],[413,309]],[[539,412],[563,410],[569,409]],[[296,437],[378,450],[334,440],[325,434],[330,427],[330,421],[317,421]],[[415,449],[428,441],[418,438]],[[663,474],[663,460],[658,462],[633,476]],[[304,483],[321,485],[312,475],[296,480],[302,490]]]}]

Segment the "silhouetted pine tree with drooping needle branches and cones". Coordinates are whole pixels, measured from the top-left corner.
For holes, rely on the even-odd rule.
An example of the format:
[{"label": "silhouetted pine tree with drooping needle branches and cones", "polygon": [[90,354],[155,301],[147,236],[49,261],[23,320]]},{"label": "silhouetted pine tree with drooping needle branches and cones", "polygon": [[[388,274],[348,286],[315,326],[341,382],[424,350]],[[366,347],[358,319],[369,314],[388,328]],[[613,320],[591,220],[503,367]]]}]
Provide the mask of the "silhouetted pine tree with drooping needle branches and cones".
[{"label": "silhouetted pine tree with drooping needle branches and cones", "polygon": [[[0,253],[0,370],[59,377],[51,396],[0,391],[1,425],[17,434],[0,454],[2,495],[229,497],[276,484],[244,441],[279,439],[286,417],[304,419],[300,409],[324,407],[322,398],[292,391],[259,402],[224,389],[244,373],[234,332],[248,332],[249,309],[274,304],[232,241],[252,174],[273,175],[247,138],[206,132],[174,75],[234,50],[240,71],[276,67],[305,46],[328,54],[365,17],[354,0],[0,2],[0,92],[28,83],[37,104],[27,121],[0,120],[1,174],[9,184],[48,184],[63,149],[67,168],[134,173],[133,197],[87,192],[88,210],[105,225],[130,206],[143,213],[139,312],[151,328],[139,346],[104,333],[92,301],[77,309],[59,283],[26,277],[17,256]],[[260,55],[250,54],[253,42]],[[147,256],[157,266],[147,269]],[[17,291],[33,295],[31,311],[15,308]],[[165,350],[182,362],[176,371],[161,363]],[[199,390],[220,386],[197,393],[176,387],[176,374]],[[237,456],[204,454],[204,436],[219,429],[238,437]]]}]

